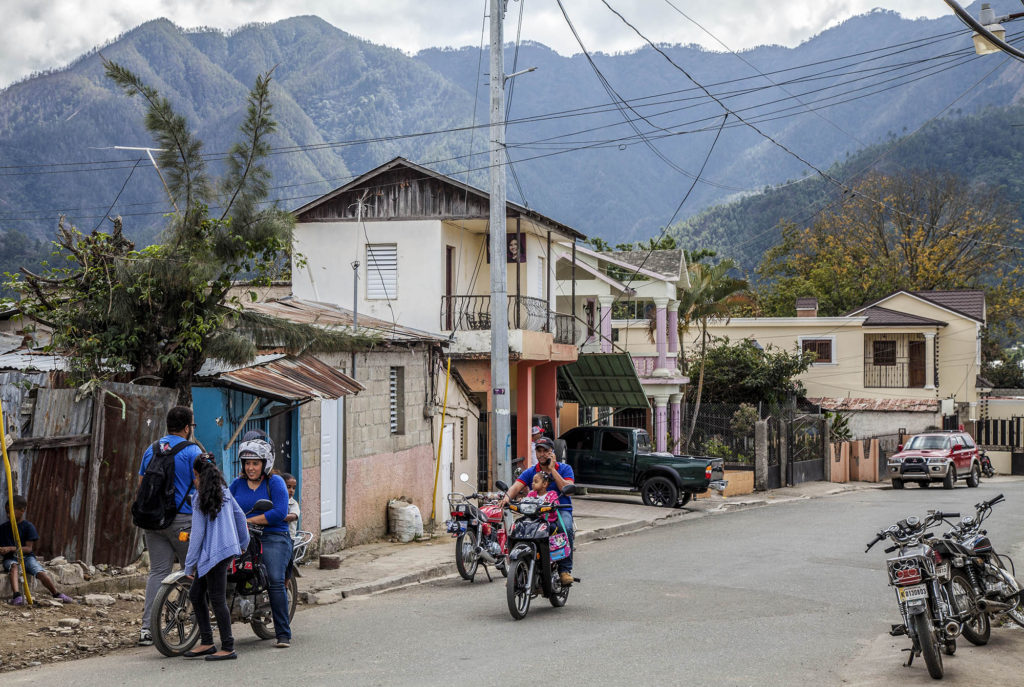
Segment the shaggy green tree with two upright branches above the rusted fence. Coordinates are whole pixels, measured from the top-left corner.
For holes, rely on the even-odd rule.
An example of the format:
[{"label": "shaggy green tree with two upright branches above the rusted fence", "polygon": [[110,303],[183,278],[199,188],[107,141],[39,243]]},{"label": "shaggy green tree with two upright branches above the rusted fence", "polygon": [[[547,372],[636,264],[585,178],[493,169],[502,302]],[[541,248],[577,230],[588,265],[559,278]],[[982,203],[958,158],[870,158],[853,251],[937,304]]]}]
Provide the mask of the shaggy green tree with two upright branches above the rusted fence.
[{"label": "shaggy green tree with two upright branches above the rusted fence", "polygon": [[[128,372],[158,379],[187,401],[193,375],[208,356],[245,363],[259,346],[299,351],[367,343],[242,310],[229,296],[237,277],[269,282],[291,246],[292,215],[263,206],[269,189],[263,161],[276,127],[270,74],[257,77],[240,140],[217,179],[202,141],[171,103],[123,67],[104,65],[129,96],[145,101],[145,126],[162,149],[159,164],[176,212],[164,243],[142,250],[124,237],[120,218],[112,233],[89,234],[61,218],[54,264],[43,273],[23,267],[10,283],[23,311],[52,328],[52,348],[70,357],[76,381]],[[215,200],[219,211],[211,212]]]}]

